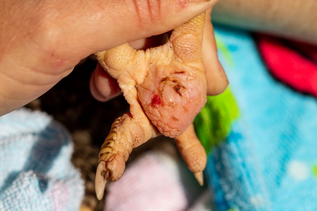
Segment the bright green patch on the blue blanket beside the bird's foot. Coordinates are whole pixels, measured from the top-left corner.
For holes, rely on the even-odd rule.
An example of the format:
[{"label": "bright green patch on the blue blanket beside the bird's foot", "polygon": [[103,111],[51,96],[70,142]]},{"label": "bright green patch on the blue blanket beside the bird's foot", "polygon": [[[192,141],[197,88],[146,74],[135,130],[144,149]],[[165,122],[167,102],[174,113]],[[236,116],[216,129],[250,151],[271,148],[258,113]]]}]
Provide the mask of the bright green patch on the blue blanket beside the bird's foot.
[{"label": "bright green patch on the blue blanket beside the bird's foot", "polygon": [[207,96],[206,105],[194,120],[197,137],[207,153],[229,135],[231,122],[238,116],[239,109],[229,87],[218,96]]}]

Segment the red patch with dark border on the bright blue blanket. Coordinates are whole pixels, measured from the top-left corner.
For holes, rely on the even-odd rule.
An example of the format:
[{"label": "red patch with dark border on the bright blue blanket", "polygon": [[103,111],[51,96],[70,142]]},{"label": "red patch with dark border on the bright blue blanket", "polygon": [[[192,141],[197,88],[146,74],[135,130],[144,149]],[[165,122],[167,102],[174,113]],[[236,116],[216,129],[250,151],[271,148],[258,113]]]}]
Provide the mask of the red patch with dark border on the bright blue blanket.
[{"label": "red patch with dark border on the bright blue blanket", "polygon": [[317,97],[317,47],[257,35],[262,57],[272,74],[295,90]]}]

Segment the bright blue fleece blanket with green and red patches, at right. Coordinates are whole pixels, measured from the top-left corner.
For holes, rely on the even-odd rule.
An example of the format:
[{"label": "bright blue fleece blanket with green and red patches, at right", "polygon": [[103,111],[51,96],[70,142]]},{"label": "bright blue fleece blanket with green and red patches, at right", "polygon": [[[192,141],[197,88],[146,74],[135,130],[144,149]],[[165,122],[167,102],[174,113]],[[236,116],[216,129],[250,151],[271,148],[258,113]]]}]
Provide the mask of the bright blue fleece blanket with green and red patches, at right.
[{"label": "bright blue fleece blanket with green and red patches, at right", "polygon": [[217,27],[230,86],[195,125],[217,210],[317,210],[317,48]]}]

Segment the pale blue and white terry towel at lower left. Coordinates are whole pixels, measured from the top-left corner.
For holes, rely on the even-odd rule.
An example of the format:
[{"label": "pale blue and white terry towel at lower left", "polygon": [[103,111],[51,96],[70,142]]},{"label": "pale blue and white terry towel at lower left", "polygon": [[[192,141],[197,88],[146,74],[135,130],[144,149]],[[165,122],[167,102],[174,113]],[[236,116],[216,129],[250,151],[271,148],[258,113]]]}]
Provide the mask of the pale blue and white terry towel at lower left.
[{"label": "pale blue and white terry towel at lower left", "polygon": [[46,114],[0,117],[0,210],[79,210],[84,183],[72,152],[66,129]]}]

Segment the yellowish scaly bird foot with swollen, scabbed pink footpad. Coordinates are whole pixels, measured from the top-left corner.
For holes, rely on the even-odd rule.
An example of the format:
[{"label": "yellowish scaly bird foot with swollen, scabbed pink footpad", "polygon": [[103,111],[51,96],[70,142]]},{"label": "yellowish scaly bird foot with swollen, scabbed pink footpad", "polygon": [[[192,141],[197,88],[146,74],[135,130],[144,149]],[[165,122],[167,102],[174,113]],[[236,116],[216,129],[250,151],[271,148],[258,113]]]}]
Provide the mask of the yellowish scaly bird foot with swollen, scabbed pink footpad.
[{"label": "yellowish scaly bird foot with swollen, scabbed pink footpad", "polygon": [[[207,82],[201,61],[205,14],[175,28],[162,46],[146,51],[129,44],[96,53],[130,104],[101,147],[95,189],[101,199],[107,180],[117,181],[133,147],[160,134],[175,138],[200,184],[206,153],[192,121],[206,103]],[[189,127],[188,127],[189,126]]]}]

